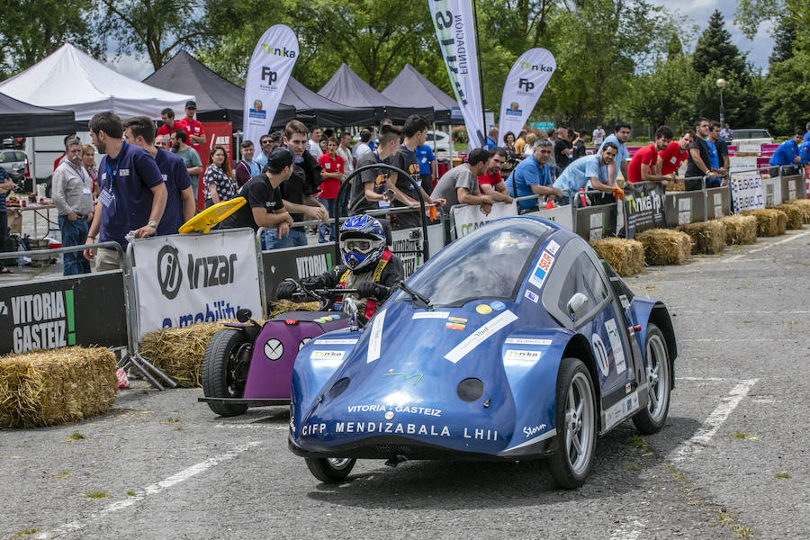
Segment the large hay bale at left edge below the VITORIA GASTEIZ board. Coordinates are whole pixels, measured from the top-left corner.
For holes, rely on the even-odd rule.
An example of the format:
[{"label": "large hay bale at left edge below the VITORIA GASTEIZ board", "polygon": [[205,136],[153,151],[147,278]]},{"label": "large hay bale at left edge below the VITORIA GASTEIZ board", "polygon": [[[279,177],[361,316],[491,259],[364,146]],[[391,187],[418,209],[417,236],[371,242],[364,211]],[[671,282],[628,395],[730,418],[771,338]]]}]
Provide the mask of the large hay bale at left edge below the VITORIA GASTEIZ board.
[{"label": "large hay bale at left edge below the VITORIA GASTEIZ board", "polygon": [[115,356],[103,347],[64,347],[0,357],[0,427],[53,426],[112,409]]}]

